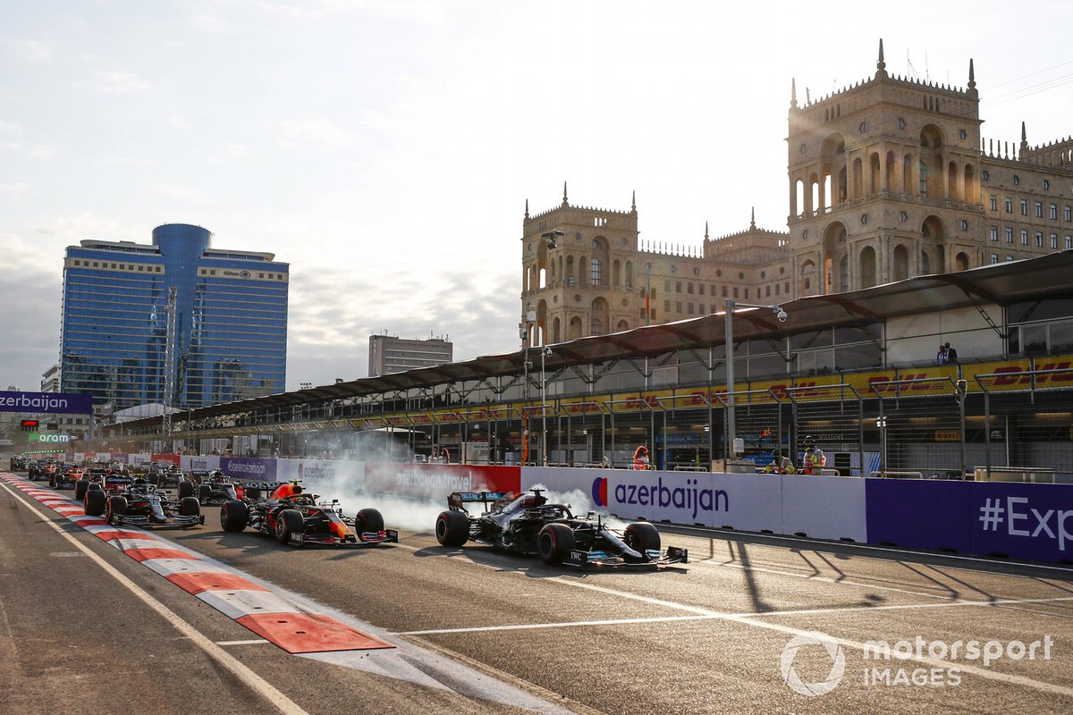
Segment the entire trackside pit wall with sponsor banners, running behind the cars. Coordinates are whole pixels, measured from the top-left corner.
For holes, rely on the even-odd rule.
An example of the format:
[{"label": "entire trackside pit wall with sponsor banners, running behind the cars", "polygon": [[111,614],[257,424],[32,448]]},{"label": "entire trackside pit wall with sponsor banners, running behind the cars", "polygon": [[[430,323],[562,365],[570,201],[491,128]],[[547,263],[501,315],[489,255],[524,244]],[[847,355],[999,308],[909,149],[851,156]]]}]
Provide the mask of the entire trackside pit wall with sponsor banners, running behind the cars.
[{"label": "entire trackside pit wall with sponsor banners, running behind the cars", "polygon": [[[363,491],[443,501],[452,491],[544,487],[576,511],[626,520],[802,535],[908,549],[1073,562],[1073,485],[862,479],[479,464],[122,455],[245,481],[344,480]],[[171,457],[173,459],[166,459]],[[165,458],[162,460],[161,458]]]}]

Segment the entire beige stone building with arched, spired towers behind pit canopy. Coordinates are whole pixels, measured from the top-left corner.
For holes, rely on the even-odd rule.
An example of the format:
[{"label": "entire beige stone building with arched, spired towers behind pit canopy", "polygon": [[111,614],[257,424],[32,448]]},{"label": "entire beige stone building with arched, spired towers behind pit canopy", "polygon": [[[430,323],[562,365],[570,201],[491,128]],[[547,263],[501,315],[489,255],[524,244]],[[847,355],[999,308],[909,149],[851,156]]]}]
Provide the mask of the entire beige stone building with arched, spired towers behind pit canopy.
[{"label": "entire beige stone building with arched, spired towers behind pit canopy", "polygon": [[[668,251],[629,211],[562,204],[523,222],[527,345],[671,323],[726,298],[775,303],[1073,249],[1073,138],[985,141],[965,89],[876,74],[798,105],[791,84],[789,232]],[[555,232],[556,235],[552,235]],[[647,291],[647,295],[646,295]],[[646,300],[647,298],[647,300]]]}]

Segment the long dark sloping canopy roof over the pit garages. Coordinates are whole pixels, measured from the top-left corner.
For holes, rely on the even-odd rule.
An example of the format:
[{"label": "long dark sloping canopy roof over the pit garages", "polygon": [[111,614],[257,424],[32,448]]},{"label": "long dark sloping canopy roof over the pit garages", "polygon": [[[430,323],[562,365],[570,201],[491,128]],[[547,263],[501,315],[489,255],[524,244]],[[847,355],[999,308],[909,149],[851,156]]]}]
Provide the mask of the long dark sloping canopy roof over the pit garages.
[{"label": "long dark sloping canopy roof over the pit garages", "polygon": [[[970,270],[922,275],[897,283],[780,303],[788,319],[779,323],[765,309],[735,312],[736,341],[838,325],[874,323],[888,317],[931,313],[973,304],[1010,303],[1032,298],[1073,296],[1073,251]],[[759,300],[759,299],[758,299]],[[723,345],[724,313],[645,326],[607,336],[580,338],[550,345],[550,370],[570,364],[599,364],[628,357],[657,356],[672,351]],[[192,418],[235,415],[299,404],[431,387],[445,383],[514,375],[523,371],[521,349],[433,368],[363,377],[352,382],[282,392],[193,411]]]}]

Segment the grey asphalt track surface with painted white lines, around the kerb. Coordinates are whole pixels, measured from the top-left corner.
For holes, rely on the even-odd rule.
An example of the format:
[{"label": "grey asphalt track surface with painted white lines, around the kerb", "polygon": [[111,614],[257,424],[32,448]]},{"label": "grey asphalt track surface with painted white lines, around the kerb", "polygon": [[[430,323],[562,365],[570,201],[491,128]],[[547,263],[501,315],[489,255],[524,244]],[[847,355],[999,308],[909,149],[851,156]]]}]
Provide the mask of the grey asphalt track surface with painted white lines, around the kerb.
[{"label": "grey asphalt track surface with painted white lines, around the kerb", "polygon": [[577,572],[208,517],[158,537],[398,647],[291,655],[0,481],[0,713],[1073,712],[1068,568],[663,526],[687,567]]}]

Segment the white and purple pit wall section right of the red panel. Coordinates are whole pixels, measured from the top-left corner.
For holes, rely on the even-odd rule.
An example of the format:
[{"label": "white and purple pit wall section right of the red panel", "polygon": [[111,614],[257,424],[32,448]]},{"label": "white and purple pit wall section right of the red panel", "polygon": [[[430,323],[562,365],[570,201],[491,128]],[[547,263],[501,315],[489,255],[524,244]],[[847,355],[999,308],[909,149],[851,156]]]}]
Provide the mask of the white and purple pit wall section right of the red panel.
[{"label": "white and purple pit wall section right of the red panel", "polygon": [[533,486],[629,521],[1073,562],[1073,485],[526,467]]}]

